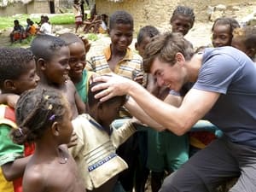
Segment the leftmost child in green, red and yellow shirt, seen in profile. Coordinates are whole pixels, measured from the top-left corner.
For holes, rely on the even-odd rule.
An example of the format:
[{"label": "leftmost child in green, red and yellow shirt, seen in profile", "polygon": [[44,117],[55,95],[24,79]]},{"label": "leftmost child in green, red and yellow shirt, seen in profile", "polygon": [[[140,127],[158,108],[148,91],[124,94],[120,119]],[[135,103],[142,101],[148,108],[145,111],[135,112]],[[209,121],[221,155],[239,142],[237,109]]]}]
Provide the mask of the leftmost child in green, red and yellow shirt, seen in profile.
[{"label": "leftmost child in green, red and yellow shirt, seen in profile", "polygon": [[[0,89],[3,94],[20,95],[38,84],[36,64],[32,52],[23,48],[0,49]],[[0,191],[22,192],[23,176],[29,154],[29,145],[12,142],[9,132],[17,129],[15,110],[8,105],[0,105]]]}]

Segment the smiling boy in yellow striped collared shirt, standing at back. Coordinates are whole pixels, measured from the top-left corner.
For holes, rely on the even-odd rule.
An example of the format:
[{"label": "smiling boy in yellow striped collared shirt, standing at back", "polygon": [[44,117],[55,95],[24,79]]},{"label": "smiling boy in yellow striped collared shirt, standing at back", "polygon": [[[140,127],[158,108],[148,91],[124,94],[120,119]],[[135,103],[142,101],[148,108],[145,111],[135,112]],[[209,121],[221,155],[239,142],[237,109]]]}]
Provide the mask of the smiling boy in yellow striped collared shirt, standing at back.
[{"label": "smiling boy in yellow striped collared shirt, standing at back", "polygon": [[[136,79],[140,84],[145,84],[142,57],[132,53],[129,48],[133,38],[133,28],[134,21],[129,13],[123,10],[114,12],[109,18],[111,44],[102,52],[93,55],[86,68],[100,75],[116,73],[128,79]],[[131,118],[131,115],[125,108],[121,108],[119,119],[123,120],[124,118]],[[138,149],[138,140],[135,137],[137,134],[130,137],[118,149],[118,154],[129,165],[129,169],[120,174],[120,182],[126,191],[133,189]]]}]

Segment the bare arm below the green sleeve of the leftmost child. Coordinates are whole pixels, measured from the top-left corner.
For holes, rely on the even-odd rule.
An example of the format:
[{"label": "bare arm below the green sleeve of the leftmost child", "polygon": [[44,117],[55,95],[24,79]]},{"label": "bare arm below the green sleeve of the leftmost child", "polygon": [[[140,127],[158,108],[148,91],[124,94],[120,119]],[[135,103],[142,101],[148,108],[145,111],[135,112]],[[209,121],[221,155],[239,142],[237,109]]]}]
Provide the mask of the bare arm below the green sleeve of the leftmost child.
[{"label": "bare arm below the green sleeve of the leftmost child", "polygon": [[4,164],[2,167],[3,176],[7,181],[13,181],[22,177],[28,160],[31,156],[16,159],[15,161]]}]

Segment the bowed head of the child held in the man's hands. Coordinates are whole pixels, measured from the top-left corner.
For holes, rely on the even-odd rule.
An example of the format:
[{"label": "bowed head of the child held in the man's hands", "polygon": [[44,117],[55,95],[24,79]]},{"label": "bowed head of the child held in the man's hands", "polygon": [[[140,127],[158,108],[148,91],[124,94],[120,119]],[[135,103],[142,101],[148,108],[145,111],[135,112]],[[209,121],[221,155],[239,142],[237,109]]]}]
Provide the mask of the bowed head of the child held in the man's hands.
[{"label": "bowed head of the child held in the man's hands", "polygon": [[119,117],[119,109],[125,104],[126,96],[113,96],[106,102],[100,102],[99,99],[95,98],[95,95],[99,91],[92,92],[91,88],[96,86],[96,84],[101,83],[102,82],[93,82],[89,84],[87,102],[88,110],[90,116],[96,119],[98,123],[110,125],[114,119]]}]

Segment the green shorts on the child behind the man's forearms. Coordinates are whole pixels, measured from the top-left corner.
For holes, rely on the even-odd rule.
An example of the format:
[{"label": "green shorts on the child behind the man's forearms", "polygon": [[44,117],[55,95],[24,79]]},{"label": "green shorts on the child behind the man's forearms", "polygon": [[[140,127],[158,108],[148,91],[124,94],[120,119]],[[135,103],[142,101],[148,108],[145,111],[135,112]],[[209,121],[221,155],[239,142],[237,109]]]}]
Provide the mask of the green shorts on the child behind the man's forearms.
[{"label": "green shorts on the child behind the man's forearms", "polygon": [[153,172],[172,172],[189,160],[189,137],[148,129],[148,162]]}]

